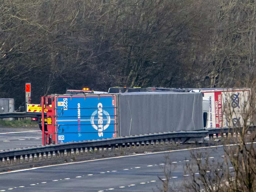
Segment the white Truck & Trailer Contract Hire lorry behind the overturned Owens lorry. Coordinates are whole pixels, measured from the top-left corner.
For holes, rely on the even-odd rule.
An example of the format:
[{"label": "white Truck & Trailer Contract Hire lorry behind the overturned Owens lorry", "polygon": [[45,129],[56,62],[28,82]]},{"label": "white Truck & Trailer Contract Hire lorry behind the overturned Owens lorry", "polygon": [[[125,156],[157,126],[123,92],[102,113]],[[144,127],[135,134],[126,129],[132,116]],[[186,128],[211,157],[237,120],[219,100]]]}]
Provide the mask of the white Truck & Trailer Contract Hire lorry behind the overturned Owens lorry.
[{"label": "white Truck & Trailer Contract Hire lorry behind the overturned Owens lorry", "polygon": [[140,91],[173,91],[173,92],[195,92],[202,93],[203,97],[209,99],[207,128],[221,127],[241,127],[253,125],[250,116],[250,88],[164,88],[164,87],[146,87],[146,88],[126,88],[110,87],[109,93],[126,93]]}]

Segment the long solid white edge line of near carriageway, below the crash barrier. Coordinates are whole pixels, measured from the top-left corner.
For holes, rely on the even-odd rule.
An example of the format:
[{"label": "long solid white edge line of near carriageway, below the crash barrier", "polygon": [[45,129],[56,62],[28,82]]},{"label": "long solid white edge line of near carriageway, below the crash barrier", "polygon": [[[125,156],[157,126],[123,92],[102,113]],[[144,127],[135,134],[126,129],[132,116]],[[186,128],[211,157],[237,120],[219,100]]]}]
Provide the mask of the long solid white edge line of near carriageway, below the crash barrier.
[{"label": "long solid white edge line of near carriageway, below the crash barrier", "polygon": [[[256,143],[256,142],[253,142],[253,143]],[[246,144],[251,144],[251,143],[246,143]],[[225,145],[225,146],[236,146],[236,145],[237,144],[230,144],[230,145]],[[71,164],[75,164],[75,163],[86,163],[86,162],[102,161],[102,160],[108,160],[108,159],[134,157],[134,156],[140,156],[140,155],[154,155],[154,154],[161,154],[161,153],[171,153],[171,152],[177,152],[177,151],[190,151],[190,150],[195,150],[195,149],[217,148],[217,147],[223,147],[223,145],[209,146],[209,147],[194,147],[194,148],[177,149],[177,150],[170,150],[170,151],[159,151],[159,152],[146,153],[146,154],[141,153],[141,154],[135,154],[135,155],[125,155],[125,156],[109,157],[109,158],[102,158],[102,159],[93,159],[93,160],[86,160],[86,161],[79,161],[79,162],[61,163],[61,164],[57,164],[57,165],[46,165],[46,166],[41,166],[41,167],[33,167],[33,168],[29,168],[29,169],[21,169],[21,170],[15,170],[15,171],[10,171],[10,172],[2,172],[0,174],[16,173],[16,172],[22,172],[22,171],[27,171],[27,170],[41,169],[41,168],[45,168],[45,167],[55,167],[55,166],[61,166],[61,165],[71,165]],[[109,171],[107,171],[107,172],[109,172]]]}]

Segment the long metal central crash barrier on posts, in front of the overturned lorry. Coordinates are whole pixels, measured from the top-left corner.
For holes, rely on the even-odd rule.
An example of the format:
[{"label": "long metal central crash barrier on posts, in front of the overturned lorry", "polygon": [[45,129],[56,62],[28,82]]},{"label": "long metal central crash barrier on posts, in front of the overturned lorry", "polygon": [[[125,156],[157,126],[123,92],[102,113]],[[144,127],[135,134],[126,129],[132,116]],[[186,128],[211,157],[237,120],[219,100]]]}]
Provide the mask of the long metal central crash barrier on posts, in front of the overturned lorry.
[{"label": "long metal central crash barrier on posts, in front of the overturned lorry", "polygon": [[[148,148],[151,146],[167,146],[175,143],[204,142],[209,135],[218,133],[234,133],[233,128],[216,128],[209,131],[178,131],[153,133],[146,135],[125,136],[119,138],[69,142],[46,146],[18,148],[0,151],[0,166],[14,165],[25,162],[44,161],[88,153],[124,150],[126,148]],[[248,131],[254,131],[255,126]],[[241,131],[241,130],[240,130]],[[21,161],[22,159],[22,161]]]}]

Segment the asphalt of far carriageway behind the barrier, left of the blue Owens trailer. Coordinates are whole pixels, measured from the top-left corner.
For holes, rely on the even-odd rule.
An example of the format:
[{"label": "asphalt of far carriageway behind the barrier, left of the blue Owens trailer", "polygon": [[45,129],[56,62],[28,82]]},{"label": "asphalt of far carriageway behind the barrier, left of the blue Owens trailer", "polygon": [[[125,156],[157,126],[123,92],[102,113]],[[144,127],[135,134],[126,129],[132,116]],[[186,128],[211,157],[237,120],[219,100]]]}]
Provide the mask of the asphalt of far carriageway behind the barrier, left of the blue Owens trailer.
[{"label": "asphalt of far carriageway behind the barrier, left of the blue Owens trailer", "polygon": [[39,128],[0,128],[0,150],[42,145]]}]

